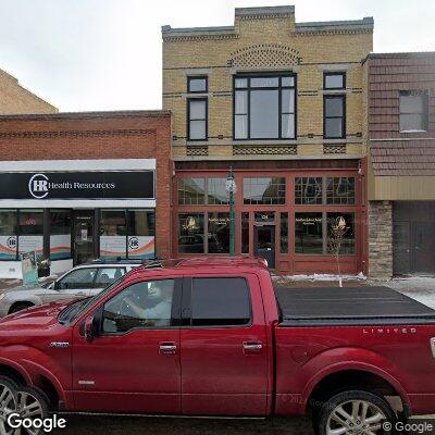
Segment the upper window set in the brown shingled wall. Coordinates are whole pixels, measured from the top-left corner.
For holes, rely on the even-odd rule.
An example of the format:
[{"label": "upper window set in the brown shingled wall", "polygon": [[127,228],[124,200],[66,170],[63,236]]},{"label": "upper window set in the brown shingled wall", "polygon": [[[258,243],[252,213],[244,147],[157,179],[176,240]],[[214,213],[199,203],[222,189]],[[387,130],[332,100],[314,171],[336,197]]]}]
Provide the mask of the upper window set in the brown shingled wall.
[{"label": "upper window set in the brown shingled wall", "polygon": [[400,91],[400,132],[426,132],[427,124],[427,91]]}]

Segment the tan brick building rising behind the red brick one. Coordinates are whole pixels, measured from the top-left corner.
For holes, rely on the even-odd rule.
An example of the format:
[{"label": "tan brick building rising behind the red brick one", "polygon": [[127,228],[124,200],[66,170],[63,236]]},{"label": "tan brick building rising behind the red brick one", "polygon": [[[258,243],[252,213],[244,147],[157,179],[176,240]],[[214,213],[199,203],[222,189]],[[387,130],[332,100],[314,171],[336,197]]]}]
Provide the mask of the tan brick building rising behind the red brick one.
[{"label": "tan brick building rising behind the red brick one", "polygon": [[15,77],[0,70],[0,115],[55,112],[54,105],[23,88]]}]

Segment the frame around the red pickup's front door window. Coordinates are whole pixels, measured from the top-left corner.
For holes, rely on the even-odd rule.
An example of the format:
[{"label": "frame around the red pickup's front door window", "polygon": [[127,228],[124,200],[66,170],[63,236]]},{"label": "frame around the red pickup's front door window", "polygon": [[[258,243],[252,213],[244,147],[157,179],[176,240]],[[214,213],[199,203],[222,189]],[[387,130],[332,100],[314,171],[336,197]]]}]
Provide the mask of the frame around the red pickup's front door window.
[{"label": "frame around the red pickup's front door window", "polygon": [[[125,276],[125,275],[124,275]],[[140,283],[149,283],[154,281],[166,281],[173,279],[174,281],[174,291],[172,296],[172,308],[171,308],[171,324],[169,326],[136,326],[132,327],[125,332],[105,332],[103,328],[104,323],[104,306],[120,295],[122,291],[132,287],[133,285],[140,284]],[[182,289],[183,289],[183,278],[179,276],[165,276],[159,277],[157,279],[135,279],[124,282],[122,288],[116,291],[116,294],[112,295],[110,298],[104,299],[102,303],[97,308],[97,321],[99,325],[99,336],[102,337],[113,337],[113,336],[123,336],[127,334],[132,334],[135,331],[156,331],[156,330],[179,330],[181,327],[181,319],[182,319]]]}]

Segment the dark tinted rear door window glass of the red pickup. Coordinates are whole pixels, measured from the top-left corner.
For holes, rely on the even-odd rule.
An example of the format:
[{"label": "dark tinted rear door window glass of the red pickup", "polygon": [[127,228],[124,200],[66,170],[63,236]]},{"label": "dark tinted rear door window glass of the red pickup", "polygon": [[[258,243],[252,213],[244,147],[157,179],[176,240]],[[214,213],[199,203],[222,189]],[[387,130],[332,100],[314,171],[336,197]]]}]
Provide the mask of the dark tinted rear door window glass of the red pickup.
[{"label": "dark tinted rear door window glass of the red pickup", "polygon": [[245,278],[194,278],[192,326],[239,326],[251,319],[249,288]]}]

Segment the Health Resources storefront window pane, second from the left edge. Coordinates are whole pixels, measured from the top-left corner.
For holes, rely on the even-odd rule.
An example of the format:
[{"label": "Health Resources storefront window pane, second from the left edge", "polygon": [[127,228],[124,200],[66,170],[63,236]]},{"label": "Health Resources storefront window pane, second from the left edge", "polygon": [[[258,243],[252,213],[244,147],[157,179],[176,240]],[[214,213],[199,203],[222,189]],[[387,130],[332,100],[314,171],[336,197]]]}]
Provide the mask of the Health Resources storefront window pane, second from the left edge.
[{"label": "Health Resources storefront window pane, second from the left edge", "polygon": [[44,254],[44,212],[42,210],[20,210],[18,213],[18,253],[35,251]]}]

